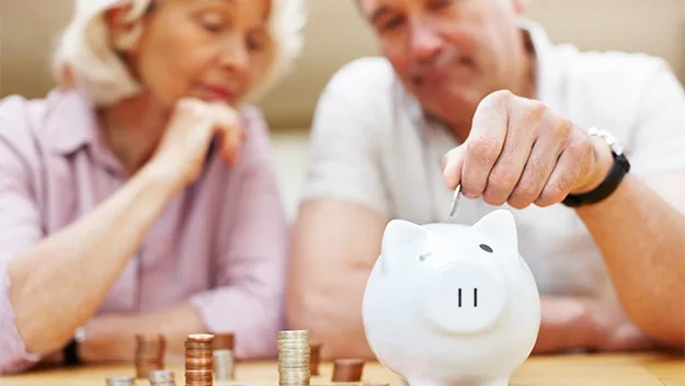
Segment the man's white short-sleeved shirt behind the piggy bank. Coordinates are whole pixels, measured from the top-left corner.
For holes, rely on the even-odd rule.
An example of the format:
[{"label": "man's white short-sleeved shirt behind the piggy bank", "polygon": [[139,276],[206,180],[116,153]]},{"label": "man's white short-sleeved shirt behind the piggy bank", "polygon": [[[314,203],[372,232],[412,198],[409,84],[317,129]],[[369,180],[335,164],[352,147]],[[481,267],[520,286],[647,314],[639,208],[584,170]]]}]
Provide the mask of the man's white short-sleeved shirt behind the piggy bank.
[{"label": "man's white short-sleeved shirt behind the piggy bank", "polygon": [[[638,177],[685,170],[685,92],[667,64],[646,55],[580,53],[523,23],[538,59],[537,98],[584,127],[610,130]],[[340,69],[317,106],[302,200],[335,197],[387,219],[475,224],[500,207],[463,197],[442,179],[458,144],[424,124],[421,109],[384,58]],[[520,251],[544,294],[613,296],[601,251],[574,209],[562,204],[512,211]],[[620,231],[626,224],[615,224]],[[625,242],[630,242],[626,240]]]}]

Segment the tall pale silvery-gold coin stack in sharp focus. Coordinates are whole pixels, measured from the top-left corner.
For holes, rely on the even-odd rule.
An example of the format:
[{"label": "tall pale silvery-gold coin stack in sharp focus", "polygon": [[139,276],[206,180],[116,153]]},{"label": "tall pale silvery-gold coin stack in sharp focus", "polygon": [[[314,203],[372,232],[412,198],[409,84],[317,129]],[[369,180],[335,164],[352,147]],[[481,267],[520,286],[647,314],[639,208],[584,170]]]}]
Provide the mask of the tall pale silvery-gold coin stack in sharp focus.
[{"label": "tall pale silvery-gold coin stack in sharp focus", "polygon": [[309,332],[278,332],[278,385],[309,386]]}]

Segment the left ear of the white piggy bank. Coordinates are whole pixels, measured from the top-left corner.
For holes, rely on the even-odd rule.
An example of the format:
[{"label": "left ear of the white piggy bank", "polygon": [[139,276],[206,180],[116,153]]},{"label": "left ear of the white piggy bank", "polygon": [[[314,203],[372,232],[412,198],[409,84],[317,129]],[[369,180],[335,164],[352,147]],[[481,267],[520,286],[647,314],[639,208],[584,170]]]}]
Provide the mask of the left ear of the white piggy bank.
[{"label": "left ear of the white piggy bank", "polygon": [[393,219],[383,234],[380,266],[383,272],[392,271],[402,259],[418,258],[427,230],[414,223]]}]

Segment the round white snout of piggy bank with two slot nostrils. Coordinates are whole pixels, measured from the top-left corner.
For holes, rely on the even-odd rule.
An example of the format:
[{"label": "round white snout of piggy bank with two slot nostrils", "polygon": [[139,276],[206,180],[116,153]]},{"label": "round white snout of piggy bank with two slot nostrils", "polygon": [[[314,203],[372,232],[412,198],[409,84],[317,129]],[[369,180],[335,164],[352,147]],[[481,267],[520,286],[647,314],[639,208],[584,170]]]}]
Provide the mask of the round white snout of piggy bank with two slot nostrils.
[{"label": "round white snout of piggy bank with two slot nostrils", "polygon": [[478,260],[441,269],[424,302],[426,316],[452,333],[478,333],[498,322],[506,306],[503,274]]}]

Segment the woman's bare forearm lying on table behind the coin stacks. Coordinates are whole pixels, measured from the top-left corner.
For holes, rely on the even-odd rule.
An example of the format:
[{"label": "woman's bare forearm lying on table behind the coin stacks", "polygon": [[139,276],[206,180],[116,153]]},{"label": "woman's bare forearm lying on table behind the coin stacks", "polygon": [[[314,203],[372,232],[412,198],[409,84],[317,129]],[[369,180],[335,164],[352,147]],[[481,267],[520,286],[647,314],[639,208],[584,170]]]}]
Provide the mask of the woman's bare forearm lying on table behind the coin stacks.
[{"label": "woman's bare forearm lying on table behind the coin stacks", "polygon": [[81,347],[83,361],[130,362],[135,356],[136,333],[162,333],[167,338],[167,354],[182,357],[189,333],[203,332],[199,315],[187,303],[160,311],[139,315],[104,315],[88,326],[88,339]]}]

